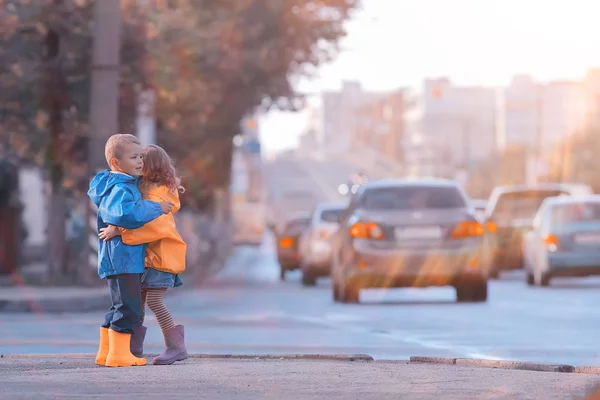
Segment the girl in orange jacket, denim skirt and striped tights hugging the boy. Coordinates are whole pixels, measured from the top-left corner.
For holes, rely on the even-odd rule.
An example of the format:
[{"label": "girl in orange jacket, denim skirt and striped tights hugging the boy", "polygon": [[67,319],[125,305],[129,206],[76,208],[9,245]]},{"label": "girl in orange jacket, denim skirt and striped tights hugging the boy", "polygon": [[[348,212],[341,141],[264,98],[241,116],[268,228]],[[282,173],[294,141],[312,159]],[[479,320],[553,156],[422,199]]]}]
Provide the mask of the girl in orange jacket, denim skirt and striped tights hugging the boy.
[{"label": "girl in orange jacket, denim skirt and striped tights hugging the boy", "polygon": [[148,304],[163,332],[166,345],[165,351],[152,360],[152,363],[168,365],[188,357],[183,326],[175,325],[164,303],[167,289],[183,284],[179,274],[185,270],[186,244],[177,233],[173,214],[181,206],[179,193],[183,193],[185,189],[181,186],[173,161],[161,147],[149,145],[145,149],[144,168],[139,187],[144,200],[173,203],[172,212],[138,229],[108,226],[101,229],[100,238],[110,240],[114,236],[121,235],[123,242],[128,245],[147,243],[146,269],[142,275],[141,318],[131,338],[131,353],[141,357],[144,352],[146,327],[143,326],[143,322],[144,311]]}]

